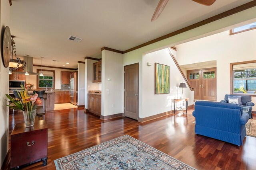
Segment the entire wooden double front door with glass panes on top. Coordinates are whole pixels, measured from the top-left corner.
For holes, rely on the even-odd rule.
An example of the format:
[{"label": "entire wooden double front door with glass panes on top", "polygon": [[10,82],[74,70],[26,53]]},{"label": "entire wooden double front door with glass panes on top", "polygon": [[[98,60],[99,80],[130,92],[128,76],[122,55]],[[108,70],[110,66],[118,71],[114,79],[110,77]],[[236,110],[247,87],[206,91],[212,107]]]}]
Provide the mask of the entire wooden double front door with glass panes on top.
[{"label": "entire wooden double front door with glass panes on top", "polygon": [[216,101],[216,78],[216,68],[187,70],[188,82],[194,88],[194,99]]}]

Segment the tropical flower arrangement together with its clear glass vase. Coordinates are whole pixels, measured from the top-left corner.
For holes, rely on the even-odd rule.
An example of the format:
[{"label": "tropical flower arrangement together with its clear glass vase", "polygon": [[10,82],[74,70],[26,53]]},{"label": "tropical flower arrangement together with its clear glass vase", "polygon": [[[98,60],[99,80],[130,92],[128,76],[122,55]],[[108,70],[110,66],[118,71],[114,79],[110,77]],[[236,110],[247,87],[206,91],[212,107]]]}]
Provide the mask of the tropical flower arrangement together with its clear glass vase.
[{"label": "tropical flower arrangement together with its clear glass vase", "polygon": [[38,98],[38,94],[28,96],[28,88],[21,85],[22,90],[18,92],[19,98],[14,98],[9,94],[5,94],[12,105],[7,105],[12,109],[18,109],[23,111],[24,121],[26,127],[34,126],[36,118],[36,109],[38,106],[42,106],[42,100]]}]

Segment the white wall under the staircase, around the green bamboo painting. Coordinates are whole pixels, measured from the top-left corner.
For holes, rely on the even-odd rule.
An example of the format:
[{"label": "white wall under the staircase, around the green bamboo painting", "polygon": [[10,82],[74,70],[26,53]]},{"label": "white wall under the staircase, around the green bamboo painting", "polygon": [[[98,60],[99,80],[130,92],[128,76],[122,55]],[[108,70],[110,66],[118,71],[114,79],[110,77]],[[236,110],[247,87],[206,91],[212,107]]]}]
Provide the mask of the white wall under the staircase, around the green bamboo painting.
[{"label": "white wall under the staircase, around the green bamboo painting", "polygon": [[[175,53],[176,51],[172,51]],[[175,56],[175,54],[174,54]],[[152,66],[147,66],[147,63],[152,63]],[[165,64],[170,66],[170,94],[154,94],[155,90],[155,63]],[[177,98],[182,94],[182,89],[178,88],[181,82],[185,82],[182,74],[178,70],[176,64],[172,60],[167,49],[155,51],[144,55],[142,58],[142,114],[140,118],[149,117],[174,109],[172,99]],[[188,87],[188,85],[187,85]],[[188,105],[193,104],[194,92],[189,88],[183,88],[184,96],[189,98]],[[186,103],[185,103],[186,105]],[[177,106],[177,105],[176,105]]]}]

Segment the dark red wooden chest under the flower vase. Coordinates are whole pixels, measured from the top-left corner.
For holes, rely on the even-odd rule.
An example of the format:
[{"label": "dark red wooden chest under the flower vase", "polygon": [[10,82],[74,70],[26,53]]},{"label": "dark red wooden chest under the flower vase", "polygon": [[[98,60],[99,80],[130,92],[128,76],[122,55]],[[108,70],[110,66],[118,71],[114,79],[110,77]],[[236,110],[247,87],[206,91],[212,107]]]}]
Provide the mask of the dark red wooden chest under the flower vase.
[{"label": "dark red wooden chest under the flower vase", "polygon": [[11,168],[42,160],[47,165],[48,128],[45,120],[35,121],[34,127],[17,123],[11,134]]}]

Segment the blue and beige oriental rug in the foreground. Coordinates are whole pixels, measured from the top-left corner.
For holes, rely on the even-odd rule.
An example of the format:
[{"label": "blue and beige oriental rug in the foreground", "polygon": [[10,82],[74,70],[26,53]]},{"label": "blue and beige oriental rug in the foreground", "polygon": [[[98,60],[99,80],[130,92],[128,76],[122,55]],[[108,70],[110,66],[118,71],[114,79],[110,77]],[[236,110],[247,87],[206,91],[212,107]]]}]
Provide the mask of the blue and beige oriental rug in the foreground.
[{"label": "blue and beige oriental rug in the foreground", "polygon": [[195,170],[129,135],[59,158],[54,163],[57,170]]}]

